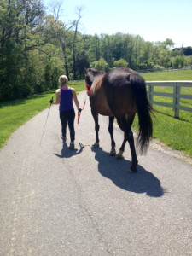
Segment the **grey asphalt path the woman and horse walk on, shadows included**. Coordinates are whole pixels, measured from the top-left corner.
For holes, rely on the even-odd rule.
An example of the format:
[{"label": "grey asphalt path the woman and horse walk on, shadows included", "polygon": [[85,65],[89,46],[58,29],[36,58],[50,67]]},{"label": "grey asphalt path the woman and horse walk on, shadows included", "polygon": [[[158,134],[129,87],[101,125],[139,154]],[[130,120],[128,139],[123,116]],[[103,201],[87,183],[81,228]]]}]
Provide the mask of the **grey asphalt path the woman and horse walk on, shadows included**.
[{"label": "grey asphalt path the woman and horse walk on, shadows included", "polygon": [[[83,106],[85,92],[79,97]],[[58,106],[9,138],[0,151],[0,255],[192,255],[192,166],[155,150],[137,155],[138,172],[108,155],[108,118],[101,148],[87,100],[76,150],[61,143]],[[119,149],[123,134],[116,127]]]}]

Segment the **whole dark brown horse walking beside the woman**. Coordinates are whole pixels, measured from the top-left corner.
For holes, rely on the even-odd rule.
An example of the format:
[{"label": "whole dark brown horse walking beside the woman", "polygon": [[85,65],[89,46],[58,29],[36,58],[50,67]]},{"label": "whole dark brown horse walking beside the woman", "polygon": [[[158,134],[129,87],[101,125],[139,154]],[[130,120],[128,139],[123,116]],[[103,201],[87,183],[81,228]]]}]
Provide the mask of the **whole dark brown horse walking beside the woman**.
[{"label": "whole dark brown horse walking beside the woman", "polygon": [[147,98],[146,85],[143,77],[129,68],[117,68],[103,73],[90,68],[85,69],[85,81],[90,87],[90,107],[95,120],[96,143],[99,146],[98,114],[109,116],[108,131],[111,136],[111,152],[116,154],[113,139],[113,120],[117,119],[118,125],[124,131],[124,141],[119,149],[118,158],[122,158],[125,143],[128,141],[131,148],[131,172],[137,172],[137,154],[134,145],[131,125],[138,114],[139,131],[137,142],[141,153],[147,150],[153,125],[150,116],[151,107]]}]

